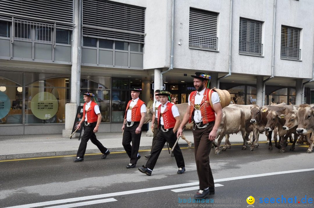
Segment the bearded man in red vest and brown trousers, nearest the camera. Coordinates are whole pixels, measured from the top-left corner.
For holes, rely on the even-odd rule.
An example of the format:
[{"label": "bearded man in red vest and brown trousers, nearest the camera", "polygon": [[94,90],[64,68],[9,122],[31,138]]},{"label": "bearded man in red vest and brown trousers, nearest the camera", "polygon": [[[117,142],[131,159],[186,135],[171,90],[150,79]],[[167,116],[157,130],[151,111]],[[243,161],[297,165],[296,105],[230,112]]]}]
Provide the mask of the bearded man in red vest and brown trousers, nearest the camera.
[{"label": "bearded man in red vest and brown trousers, nearest the camera", "polygon": [[[187,112],[184,114],[182,123],[178,129],[177,136],[183,132],[183,127],[187,122],[194,121],[194,155],[196,169],[199,178],[199,190],[194,198],[203,199],[208,194],[215,193],[214,178],[209,165],[209,153],[213,141],[217,137],[217,130],[222,119],[222,110],[219,95],[207,88],[210,76],[201,72],[191,75],[194,80],[193,91],[188,98]],[[210,106],[209,99],[213,103]],[[215,116],[216,113],[216,116]]]}]

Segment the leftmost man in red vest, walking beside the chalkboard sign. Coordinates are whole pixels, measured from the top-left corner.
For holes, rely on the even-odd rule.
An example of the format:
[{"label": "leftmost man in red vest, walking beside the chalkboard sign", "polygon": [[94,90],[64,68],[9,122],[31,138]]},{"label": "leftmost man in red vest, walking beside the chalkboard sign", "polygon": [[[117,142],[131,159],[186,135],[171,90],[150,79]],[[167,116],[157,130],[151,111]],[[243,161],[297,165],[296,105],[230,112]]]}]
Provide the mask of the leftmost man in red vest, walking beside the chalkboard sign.
[{"label": "leftmost man in red vest, walking beside the chalkboard sign", "polygon": [[77,129],[81,128],[81,124],[84,122],[84,134],[81,143],[78,147],[78,152],[74,162],[84,161],[84,155],[86,151],[87,142],[90,139],[94,145],[98,147],[100,152],[103,154],[101,159],[105,159],[110,151],[104,147],[99,140],[97,140],[95,133],[98,132],[99,124],[101,122],[101,114],[99,106],[92,101],[95,95],[90,92],[85,92],[83,94],[84,107],[83,107],[83,118],[77,125]]}]

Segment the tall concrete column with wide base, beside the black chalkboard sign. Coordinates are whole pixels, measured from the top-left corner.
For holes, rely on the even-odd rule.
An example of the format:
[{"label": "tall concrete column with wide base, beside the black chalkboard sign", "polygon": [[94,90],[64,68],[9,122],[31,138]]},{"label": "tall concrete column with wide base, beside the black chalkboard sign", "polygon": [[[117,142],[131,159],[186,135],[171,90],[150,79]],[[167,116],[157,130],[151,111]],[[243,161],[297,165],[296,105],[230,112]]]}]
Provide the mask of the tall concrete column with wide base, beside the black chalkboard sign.
[{"label": "tall concrete column with wide base, beside the black chalkboard sign", "polygon": [[[65,104],[65,129],[62,130],[63,138],[70,138],[74,119],[77,110],[77,99],[79,99],[77,82],[78,80],[78,47],[79,47],[79,3],[81,1],[73,1],[74,6],[74,27],[73,27],[73,47],[72,47],[72,67],[71,67],[71,103]],[[75,134],[72,138],[75,138]]]}]

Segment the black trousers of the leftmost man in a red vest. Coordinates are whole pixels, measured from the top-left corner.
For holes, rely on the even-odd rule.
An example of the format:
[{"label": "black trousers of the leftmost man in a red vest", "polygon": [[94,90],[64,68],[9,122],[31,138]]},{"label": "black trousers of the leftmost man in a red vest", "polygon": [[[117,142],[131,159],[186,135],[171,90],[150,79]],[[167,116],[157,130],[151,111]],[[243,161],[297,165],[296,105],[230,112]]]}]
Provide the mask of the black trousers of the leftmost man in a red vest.
[{"label": "black trousers of the leftmost man in a red vest", "polygon": [[86,147],[87,147],[87,142],[89,139],[92,141],[92,143],[94,145],[96,145],[98,147],[98,149],[100,150],[100,152],[102,154],[105,154],[105,152],[108,150],[106,147],[104,147],[100,143],[99,140],[97,140],[96,135],[93,132],[96,124],[97,124],[97,122],[94,122],[94,123],[90,123],[88,126],[86,126],[85,122],[84,122],[84,134],[83,134],[83,137],[81,139],[81,143],[79,144],[79,147],[78,147],[78,152],[76,154],[77,157],[84,158]]}]

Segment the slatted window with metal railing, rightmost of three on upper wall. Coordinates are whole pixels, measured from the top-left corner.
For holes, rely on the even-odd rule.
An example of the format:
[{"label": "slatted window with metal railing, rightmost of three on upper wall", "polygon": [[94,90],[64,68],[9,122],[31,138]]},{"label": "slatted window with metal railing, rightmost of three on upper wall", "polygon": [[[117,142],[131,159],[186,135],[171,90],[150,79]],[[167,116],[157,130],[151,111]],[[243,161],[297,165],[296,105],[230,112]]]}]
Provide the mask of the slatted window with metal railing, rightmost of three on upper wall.
[{"label": "slatted window with metal railing, rightmost of three on upper wall", "polygon": [[280,58],[300,59],[300,28],[281,26]]}]

